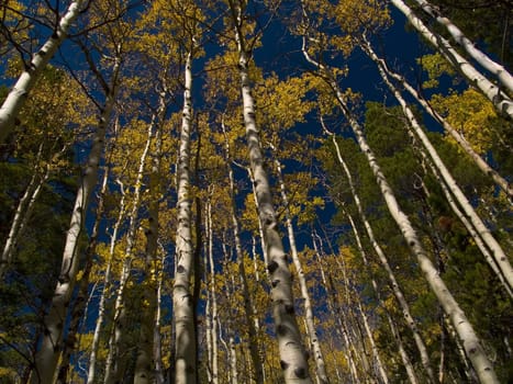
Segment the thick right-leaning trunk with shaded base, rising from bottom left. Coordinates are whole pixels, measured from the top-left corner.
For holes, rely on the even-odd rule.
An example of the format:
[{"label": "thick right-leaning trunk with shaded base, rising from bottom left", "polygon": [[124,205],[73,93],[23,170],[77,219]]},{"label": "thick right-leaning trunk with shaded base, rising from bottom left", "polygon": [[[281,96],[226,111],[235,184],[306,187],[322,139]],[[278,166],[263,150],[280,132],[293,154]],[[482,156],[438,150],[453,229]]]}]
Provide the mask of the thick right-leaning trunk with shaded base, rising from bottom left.
[{"label": "thick right-leaning trunk with shaded base, rising from bottom left", "polygon": [[60,275],[48,314],[44,319],[45,331],[41,347],[35,355],[35,366],[31,375],[32,384],[51,383],[55,374],[63,334],[66,327],[69,300],[75,287],[79,268],[78,240],[85,225],[90,195],[97,183],[98,166],[103,151],[105,131],[114,106],[115,84],[118,82],[120,60],[116,60],[113,68],[112,88],[110,93],[107,94],[105,104],[94,133],[91,151],[89,153],[88,163],[75,200],[69,230],[66,236]]}]

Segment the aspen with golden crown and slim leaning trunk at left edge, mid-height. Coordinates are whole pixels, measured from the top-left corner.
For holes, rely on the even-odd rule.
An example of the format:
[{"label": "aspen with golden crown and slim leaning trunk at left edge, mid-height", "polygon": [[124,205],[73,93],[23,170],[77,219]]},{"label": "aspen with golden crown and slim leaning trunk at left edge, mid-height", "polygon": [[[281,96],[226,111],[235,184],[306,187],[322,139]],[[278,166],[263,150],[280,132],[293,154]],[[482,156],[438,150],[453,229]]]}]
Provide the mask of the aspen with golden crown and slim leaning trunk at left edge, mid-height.
[{"label": "aspen with golden crown and slim leaning trunk at left edge, mid-height", "polygon": [[[44,196],[42,192],[48,188],[47,182],[69,167],[68,157],[80,134],[79,129],[70,133],[70,126],[77,124],[82,131],[96,123],[89,113],[91,102],[80,90],[69,87],[70,80],[63,70],[47,66],[38,80],[40,87],[34,89],[22,109],[23,129],[13,146],[20,154],[15,156],[16,162],[26,163],[32,174],[18,201],[2,248],[0,276],[16,261],[15,250],[19,245],[23,247],[19,240],[27,229],[37,202]],[[48,94],[48,88],[56,92]]]}]

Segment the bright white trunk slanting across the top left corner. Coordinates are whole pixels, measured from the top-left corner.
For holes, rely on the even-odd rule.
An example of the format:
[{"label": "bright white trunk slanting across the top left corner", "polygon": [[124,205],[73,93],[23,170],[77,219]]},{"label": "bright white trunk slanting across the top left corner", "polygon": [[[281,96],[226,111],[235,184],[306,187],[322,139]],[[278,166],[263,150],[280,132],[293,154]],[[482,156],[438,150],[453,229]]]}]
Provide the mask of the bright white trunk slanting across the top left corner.
[{"label": "bright white trunk slanting across the top left corner", "polygon": [[85,2],[85,0],[75,0],[69,4],[66,13],[60,18],[56,30],[53,31],[52,36],[34,54],[31,63],[25,66],[25,70],[3,101],[0,108],[0,143],[4,143],[7,136],[11,133],[16,117],[29,97],[29,92],[34,88],[43,69],[67,37],[68,31],[80,14]]}]

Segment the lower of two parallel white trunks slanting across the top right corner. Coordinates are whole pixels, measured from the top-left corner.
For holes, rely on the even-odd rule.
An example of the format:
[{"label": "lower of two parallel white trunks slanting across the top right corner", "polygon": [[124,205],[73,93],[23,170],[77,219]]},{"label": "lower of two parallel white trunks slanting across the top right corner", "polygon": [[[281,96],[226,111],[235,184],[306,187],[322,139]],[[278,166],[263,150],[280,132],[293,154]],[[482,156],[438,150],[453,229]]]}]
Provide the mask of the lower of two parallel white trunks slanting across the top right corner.
[{"label": "lower of two parallel white trunks slanting across the top right corner", "polygon": [[447,59],[448,63],[461,72],[471,84],[476,86],[493,103],[501,114],[513,118],[513,101],[508,97],[508,94],[502,92],[499,87],[488,80],[466,58],[461,57],[461,55],[457,53],[446,38],[434,34],[402,0],[390,0],[390,2],[406,16],[419,33],[433,44],[433,46]]}]

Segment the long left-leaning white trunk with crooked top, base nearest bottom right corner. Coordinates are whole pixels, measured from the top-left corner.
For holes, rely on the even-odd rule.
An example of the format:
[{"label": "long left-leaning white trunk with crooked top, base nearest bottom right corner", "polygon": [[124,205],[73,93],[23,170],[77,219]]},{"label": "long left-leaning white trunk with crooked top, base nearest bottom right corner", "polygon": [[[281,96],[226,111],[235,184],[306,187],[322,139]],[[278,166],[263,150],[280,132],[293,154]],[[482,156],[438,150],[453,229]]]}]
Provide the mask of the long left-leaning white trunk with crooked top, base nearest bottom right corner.
[{"label": "long left-leaning white trunk with crooked top, base nearest bottom right corner", "polygon": [[[303,44],[305,44],[304,39]],[[458,332],[458,336],[464,342],[465,351],[468,354],[470,361],[472,362],[472,365],[475,366],[479,379],[481,380],[481,382],[487,384],[498,383],[498,379],[493,366],[489,361],[487,354],[484,353],[484,350],[481,347],[480,340],[476,331],[473,330],[471,324],[467,319],[467,316],[461,310],[458,303],[445,285],[444,281],[438,275],[436,268],[433,266],[433,262],[431,261],[430,257],[427,256],[427,252],[422,246],[422,242],[415,229],[413,228],[410,219],[399,206],[395,195],[393,194],[393,191],[390,188],[387,178],[384,177],[380,166],[378,165],[376,156],[373,155],[371,148],[367,144],[367,139],[364,135],[359,123],[350,114],[344,100],[344,97],[338,89],[338,84],[333,79],[331,71],[325,66],[313,60],[309,56],[308,52],[304,49],[304,45],[303,54],[310,63],[314,64],[319,68],[321,74],[326,78],[326,81],[328,81],[330,86],[334,90],[336,101],[338,102],[345,117],[348,120],[361,151],[367,157],[369,166],[376,178],[378,187],[381,190],[381,193],[384,197],[387,207],[392,218],[395,221],[398,227],[400,228],[404,239],[406,240],[408,246],[410,247],[412,255],[415,256],[419,262],[419,267],[423,271],[424,276],[427,280],[433,293],[436,295],[445,313],[450,317],[453,325],[456,331]]]}]

